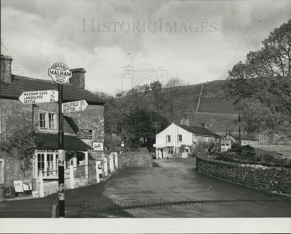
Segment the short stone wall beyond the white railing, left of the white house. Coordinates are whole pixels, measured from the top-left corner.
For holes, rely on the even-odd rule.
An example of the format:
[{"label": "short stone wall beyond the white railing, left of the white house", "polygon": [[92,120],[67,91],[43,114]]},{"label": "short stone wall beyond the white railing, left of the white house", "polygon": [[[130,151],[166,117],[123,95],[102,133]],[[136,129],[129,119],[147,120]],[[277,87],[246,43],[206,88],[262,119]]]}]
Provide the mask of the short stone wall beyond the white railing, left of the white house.
[{"label": "short stone wall beyond the white railing, left of the white house", "polygon": [[152,155],[148,152],[125,152],[117,157],[118,167],[152,167]]}]

